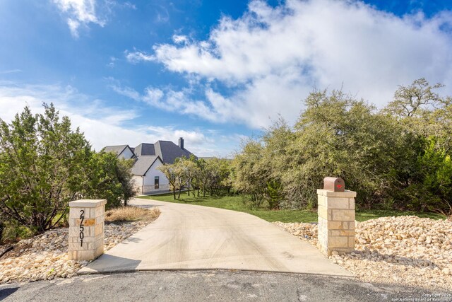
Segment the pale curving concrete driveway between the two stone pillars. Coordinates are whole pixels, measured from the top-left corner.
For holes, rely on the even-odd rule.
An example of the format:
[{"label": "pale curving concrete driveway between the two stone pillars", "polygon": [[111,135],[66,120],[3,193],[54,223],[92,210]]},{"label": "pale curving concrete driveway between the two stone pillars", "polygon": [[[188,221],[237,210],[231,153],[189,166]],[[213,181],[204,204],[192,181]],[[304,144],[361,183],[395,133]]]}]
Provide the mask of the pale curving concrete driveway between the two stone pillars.
[{"label": "pale curving concrete driveway between the two stone pillars", "polygon": [[162,269],[239,269],[351,277],[309,243],[250,214],[133,199],[160,217],[79,274]]}]

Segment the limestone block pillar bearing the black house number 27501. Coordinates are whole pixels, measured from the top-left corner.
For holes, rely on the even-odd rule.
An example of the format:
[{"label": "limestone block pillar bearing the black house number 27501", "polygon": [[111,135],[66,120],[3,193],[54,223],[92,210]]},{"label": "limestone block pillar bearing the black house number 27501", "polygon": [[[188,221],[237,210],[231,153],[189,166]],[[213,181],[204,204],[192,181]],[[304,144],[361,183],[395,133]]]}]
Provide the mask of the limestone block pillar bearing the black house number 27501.
[{"label": "limestone block pillar bearing the black house number 27501", "polygon": [[95,260],[104,253],[105,199],[69,202],[69,260]]}]

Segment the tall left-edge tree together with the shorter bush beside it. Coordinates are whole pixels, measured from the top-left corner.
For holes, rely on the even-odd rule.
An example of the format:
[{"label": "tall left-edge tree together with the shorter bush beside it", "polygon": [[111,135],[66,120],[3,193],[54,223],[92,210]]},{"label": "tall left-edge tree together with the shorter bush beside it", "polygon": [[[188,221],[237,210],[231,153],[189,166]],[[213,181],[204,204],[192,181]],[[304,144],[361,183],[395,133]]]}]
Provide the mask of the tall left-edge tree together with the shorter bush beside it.
[{"label": "tall left-edge tree together with the shorter bush beside it", "polygon": [[11,124],[0,120],[0,215],[11,225],[46,231],[80,198],[117,207],[134,194],[130,168],[113,154],[91,151],[52,104],[37,115],[25,107]]}]

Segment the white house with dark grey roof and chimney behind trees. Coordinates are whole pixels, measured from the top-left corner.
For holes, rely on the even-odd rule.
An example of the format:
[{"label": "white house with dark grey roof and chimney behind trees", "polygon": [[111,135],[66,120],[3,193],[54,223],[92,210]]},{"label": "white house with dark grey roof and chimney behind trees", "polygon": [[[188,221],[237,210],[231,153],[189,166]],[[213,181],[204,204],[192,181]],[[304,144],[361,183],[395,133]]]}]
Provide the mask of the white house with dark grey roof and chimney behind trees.
[{"label": "white house with dark grey roof and chimney behind trees", "polygon": [[184,148],[184,139],[179,139],[179,145],[172,141],[157,141],[155,144],[142,143],[135,148],[129,145],[106,146],[105,152],[113,152],[118,157],[133,158],[133,180],[140,193],[157,190],[169,190],[169,182],[165,174],[157,170],[163,163],[174,163],[178,157],[189,158],[193,153]]}]

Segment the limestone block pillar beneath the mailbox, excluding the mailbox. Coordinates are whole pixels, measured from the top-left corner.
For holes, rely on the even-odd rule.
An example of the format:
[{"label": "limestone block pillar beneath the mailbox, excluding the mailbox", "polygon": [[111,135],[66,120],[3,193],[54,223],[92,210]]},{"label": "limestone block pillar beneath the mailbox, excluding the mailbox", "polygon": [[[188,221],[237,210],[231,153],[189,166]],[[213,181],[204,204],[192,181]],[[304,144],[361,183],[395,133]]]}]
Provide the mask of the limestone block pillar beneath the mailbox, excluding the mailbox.
[{"label": "limestone block pillar beneath the mailbox, excluding the mailbox", "polygon": [[326,255],[333,250],[355,250],[356,192],[317,190],[319,195],[319,245]]}]

